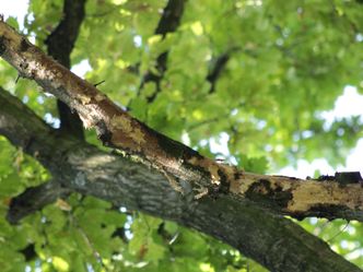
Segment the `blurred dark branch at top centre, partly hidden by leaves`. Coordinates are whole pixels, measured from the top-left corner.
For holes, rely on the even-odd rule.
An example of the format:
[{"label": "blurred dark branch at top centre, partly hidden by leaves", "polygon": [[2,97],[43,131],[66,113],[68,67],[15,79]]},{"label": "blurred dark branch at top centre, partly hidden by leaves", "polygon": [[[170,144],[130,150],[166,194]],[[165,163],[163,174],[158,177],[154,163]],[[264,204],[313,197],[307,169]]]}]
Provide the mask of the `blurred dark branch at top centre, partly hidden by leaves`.
[{"label": "blurred dark branch at top centre, partly hidden by leaves", "polygon": [[[167,2],[155,29],[156,35],[162,35],[164,38],[167,33],[175,32],[177,29],[184,12],[184,3],[185,0],[169,0]],[[154,82],[156,84],[156,92],[148,97],[149,103],[152,103],[156,98],[157,93],[161,91],[160,82],[164,76],[164,72],[166,71],[167,55],[168,51],[165,51],[156,58],[155,70],[157,73],[149,70],[142,79],[140,91],[148,82]]]}]

